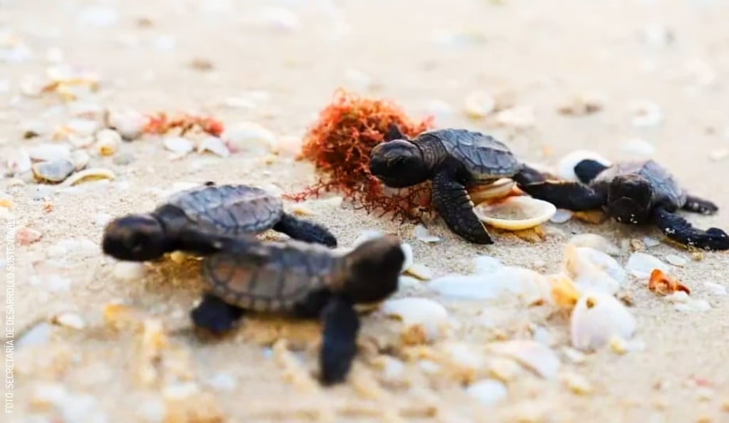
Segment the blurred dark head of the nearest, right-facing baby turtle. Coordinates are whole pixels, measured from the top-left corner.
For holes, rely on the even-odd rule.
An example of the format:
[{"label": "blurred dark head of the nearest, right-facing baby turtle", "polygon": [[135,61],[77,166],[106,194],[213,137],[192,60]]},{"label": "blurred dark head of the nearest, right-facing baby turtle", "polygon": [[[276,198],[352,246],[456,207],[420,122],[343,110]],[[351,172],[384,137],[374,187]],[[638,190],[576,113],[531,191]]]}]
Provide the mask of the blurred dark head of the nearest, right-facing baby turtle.
[{"label": "blurred dark head of the nearest, right-facing baby turtle", "polygon": [[346,256],[343,291],[355,303],[375,303],[397,291],[405,252],[395,236],[381,236],[359,244]]}]

